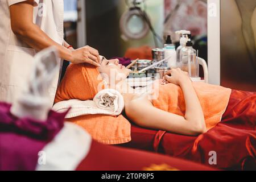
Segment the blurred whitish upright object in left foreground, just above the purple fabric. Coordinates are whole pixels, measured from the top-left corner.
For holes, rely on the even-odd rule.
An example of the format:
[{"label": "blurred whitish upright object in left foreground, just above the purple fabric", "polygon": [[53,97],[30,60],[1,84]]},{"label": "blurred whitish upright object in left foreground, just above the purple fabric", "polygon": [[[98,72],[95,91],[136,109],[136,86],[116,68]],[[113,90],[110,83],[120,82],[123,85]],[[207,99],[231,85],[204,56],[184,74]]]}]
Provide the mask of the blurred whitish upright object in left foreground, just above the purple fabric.
[{"label": "blurred whitish upright object in left foreground, just above the purple fabric", "polygon": [[[45,121],[52,107],[50,85],[59,75],[60,63],[55,47],[38,52],[26,84],[14,99],[11,113],[18,118],[34,118]],[[56,83],[57,84],[57,83]],[[55,94],[55,92],[54,92]]]}]

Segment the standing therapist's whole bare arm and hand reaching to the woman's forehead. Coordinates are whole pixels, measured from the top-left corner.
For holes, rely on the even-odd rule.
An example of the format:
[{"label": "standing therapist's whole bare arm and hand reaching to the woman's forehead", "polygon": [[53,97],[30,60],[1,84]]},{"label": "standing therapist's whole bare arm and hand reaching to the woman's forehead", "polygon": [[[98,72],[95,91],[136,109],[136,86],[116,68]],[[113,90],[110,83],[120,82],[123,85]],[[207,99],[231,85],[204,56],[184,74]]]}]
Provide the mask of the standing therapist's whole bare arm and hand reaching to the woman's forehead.
[{"label": "standing therapist's whole bare arm and hand reaching to the woman's forehead", "polygon": [[100,57],[96,49],[89,46],[75,50],[68,49],[53,41],[33,23],[33,3],[33,0],[28,0],[10,6],[11,29],[19,39],[38,51],[55,46],[60,57],[72,63],[90,63],[99,66]]}]

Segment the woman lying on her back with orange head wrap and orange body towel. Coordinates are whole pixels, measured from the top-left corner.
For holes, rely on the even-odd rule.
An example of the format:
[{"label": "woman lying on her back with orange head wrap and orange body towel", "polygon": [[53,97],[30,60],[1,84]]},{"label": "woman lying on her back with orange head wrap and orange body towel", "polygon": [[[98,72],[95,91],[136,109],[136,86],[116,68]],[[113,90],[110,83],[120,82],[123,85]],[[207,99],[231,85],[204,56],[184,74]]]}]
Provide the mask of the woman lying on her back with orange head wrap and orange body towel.
[{"label": "woman lying on her back with orange head wrap and orange body towel", "polygon": [[57,89],[55,103],[72,99],[92,100],[104,85],[104,88],[114,88],[122,94],[125,113],[137,125],[199,135],[221,121],[229,102],[231,89],[192,82],[179,68],[172,69],[162,80],[156,81],[150,92],[137,92],[131,88],[125,81],[129,73],[130,70],[117,59],[103,57],[100,68],[71,64]]}]

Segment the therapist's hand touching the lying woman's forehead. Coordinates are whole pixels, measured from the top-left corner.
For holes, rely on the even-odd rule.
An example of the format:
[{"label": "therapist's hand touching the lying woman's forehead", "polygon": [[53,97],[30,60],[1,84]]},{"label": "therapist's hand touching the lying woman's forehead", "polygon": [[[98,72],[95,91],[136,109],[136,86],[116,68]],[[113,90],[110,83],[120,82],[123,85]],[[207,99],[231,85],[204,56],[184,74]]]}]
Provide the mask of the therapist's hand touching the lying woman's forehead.
[{"label": "therapist's hand touching the lying woman's forehead", "polygon": [[100,67],[100,55],[98,51],[90,46],[72,50],[72,63],[89,63]]}]

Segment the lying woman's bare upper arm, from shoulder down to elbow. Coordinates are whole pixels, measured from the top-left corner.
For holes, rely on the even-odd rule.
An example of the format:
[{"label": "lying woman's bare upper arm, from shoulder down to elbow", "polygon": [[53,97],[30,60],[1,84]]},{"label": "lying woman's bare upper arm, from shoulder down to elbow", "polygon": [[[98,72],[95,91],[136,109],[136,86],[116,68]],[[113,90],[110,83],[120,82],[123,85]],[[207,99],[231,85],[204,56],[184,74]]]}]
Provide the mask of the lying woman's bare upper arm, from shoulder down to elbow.
[{"label": "lying woman's bare upper arm, from shoulder down to elbow", "polygon": [[125,105],[125,113],[139,126],[172,133],[197,136],[204,129],[184,117],[154,107],[148,100],[133,100]]}]

